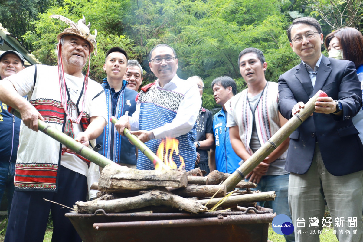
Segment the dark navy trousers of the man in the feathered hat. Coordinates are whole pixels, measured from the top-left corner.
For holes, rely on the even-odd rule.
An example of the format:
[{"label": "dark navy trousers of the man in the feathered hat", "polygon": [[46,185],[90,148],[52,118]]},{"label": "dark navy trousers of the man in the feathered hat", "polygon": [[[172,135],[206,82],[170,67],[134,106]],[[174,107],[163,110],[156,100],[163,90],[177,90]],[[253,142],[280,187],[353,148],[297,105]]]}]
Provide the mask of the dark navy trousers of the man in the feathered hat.
[{"label": "dark navy trousers of the man in the feathered hat", "polygon": [[5,235],[7,242],[42,242],[48,223],[49,211],[53,218],[52,242],[82,242],[72,223],[64,216],[77,201],[86,201],[87,177],[60,166],[58,191],[32,192],[16,190]]}]

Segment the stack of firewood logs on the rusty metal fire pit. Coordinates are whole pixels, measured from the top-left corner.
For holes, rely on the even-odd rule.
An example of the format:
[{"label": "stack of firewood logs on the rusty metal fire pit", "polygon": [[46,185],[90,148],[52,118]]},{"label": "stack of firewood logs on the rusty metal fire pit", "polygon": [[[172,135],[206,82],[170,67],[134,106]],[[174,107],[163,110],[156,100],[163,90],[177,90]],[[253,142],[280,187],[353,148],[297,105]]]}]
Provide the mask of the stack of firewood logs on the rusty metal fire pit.
[{"label": "stack of firewood logs on the rusty metal fire pit", "polygon": [[[99,190],[98,198],[89,202],[76,202],[78,213],[94,213],[103,209],[106,213],[143,211],[160,208],[174,208],[191,213],[207,212],[226,196],[224,184],[230,174],[212,171],[203,176],[199,168],[186,172],[172,169],[167,171],[140,171],[119,165],[107,165],[98,183],[91,189]],[[243,211],[255,206],[257,201],[274,200],[274,192],[252,192],[252,182],[241,181],[235,191],[219,209]],[[211,197],[214,196],[212,199]],[[155,210],[154,210],[155,211]],[[167,210],[170,211],[170,210]]]}]

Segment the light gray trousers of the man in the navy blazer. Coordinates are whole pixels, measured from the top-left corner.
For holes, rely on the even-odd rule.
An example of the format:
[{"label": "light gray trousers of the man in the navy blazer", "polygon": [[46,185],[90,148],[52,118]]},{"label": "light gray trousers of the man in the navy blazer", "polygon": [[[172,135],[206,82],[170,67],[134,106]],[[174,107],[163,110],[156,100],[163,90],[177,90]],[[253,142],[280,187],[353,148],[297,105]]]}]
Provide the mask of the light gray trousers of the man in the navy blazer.
[{"label": "light gray trousers of the man in the navy blazer", "polygon": [[[296,162],[299,161],[296,160]],[[309,171],[303,175],[290,173],[289,207],[295,241],[319,241],[323,223],[327,226],[330,224],[326,222],[329,219],[323,220],[325,198],[330,211],[330,227],[334,226],[338,240],[362,242],[362,188],[363,171],[344,176],[331,175],[325,168],[319,145],[316,143],[314,159]],[[335,223],[336,220],[339,223]]]}]

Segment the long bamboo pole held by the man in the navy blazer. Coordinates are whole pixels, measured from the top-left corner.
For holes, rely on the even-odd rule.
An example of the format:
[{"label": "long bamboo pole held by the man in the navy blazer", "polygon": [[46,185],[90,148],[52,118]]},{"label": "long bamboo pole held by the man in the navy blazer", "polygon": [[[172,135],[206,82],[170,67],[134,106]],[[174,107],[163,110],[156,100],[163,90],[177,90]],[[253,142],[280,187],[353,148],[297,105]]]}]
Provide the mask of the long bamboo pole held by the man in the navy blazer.
[{"label": "long bamboo pole held by the man in the navy blazer", "polygon": [[290,134],[296,130],[315,110],[315,102],[318,97],[327,97],[323,91],[318,91],[300,112],[292,116],[284,126],[280,128],[264,145],[261,146],[249,159],[247,159],[240,167],[229,176],[223,184],[226,185],[227,191],[231,190],[240,182],[248,173],[250,173],[258,164],[260,164],[278,145],[280,145]]}]

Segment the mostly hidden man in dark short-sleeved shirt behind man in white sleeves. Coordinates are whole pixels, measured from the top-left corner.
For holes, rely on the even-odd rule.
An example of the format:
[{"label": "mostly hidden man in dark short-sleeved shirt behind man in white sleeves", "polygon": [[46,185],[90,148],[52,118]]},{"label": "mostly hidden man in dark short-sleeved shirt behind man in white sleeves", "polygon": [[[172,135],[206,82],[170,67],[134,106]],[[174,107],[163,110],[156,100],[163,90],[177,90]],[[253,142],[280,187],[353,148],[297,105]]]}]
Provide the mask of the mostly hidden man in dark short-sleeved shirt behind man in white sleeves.
[{"label": "mostly hidden man in dark short-sleeved shirt behind man in white sleeves", "polygon": [[[197,83],[200,97],[202,97],[204,89],[203,80],[199,76],[194,75],[192,77],[189,77],[187,81],[194,81]],[[199,167],[202,171],[206,172],[204,176],[207,176],[210,172],[207,150],[209,151],[209,149],[211,149],[214,144],[213,118],[211,112],[208,109],[200,107],[196,126],[197,139],[194,144],[197,148],[197,152],[199,153],[199,159],[195,161],[194,168]]]}]

